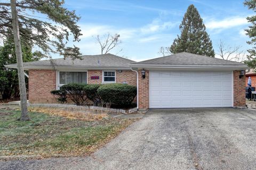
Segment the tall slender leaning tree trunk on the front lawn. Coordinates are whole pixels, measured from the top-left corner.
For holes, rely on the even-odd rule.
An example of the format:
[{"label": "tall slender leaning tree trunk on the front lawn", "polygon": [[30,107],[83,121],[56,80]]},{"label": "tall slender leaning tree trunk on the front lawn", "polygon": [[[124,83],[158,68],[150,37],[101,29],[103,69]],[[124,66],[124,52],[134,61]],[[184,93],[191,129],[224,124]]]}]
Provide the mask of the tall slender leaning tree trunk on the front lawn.
[{"label": "tall slender leaning tree trunk on the front lawn", "polygon": [[26,83],[25,83],[25,74],[23,70],[16,0],[11,0],[11,11],[12,11],[12,28],[13,28],[13,36],[14,36],[14,44],[15,44],[15,54],[17,58],[18,78],[19,78],[19,87],[20,87],[20,106],[21,106],[20,120],[29,121],[28,109],[27,109]]}]

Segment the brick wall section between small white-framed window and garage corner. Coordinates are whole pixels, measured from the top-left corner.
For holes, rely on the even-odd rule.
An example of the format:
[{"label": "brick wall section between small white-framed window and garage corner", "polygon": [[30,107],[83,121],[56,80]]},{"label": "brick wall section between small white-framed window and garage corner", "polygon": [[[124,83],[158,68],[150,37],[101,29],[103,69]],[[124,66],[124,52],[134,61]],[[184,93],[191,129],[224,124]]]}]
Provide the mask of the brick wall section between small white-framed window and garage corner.
[{"label": "brick wall section between small white-framed window and garage corner", "polygon": [[123,70],[122,73],[116,71],[116,83],[123,83],[137,86],[137,73],[131,70]]}]

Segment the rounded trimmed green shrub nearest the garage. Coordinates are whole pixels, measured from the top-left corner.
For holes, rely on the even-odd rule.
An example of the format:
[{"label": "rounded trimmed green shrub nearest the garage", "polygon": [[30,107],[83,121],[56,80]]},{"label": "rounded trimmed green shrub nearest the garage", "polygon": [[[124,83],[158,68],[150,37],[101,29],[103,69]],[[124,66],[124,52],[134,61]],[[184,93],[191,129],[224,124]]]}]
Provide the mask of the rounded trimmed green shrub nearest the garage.
[{"label": "rounded trimmed green shrub nearest the garage", "polygon": [[106,103],[126,106],[137,95],[137,87],[128,84],[105,84],[99,87],[98,94]]}]

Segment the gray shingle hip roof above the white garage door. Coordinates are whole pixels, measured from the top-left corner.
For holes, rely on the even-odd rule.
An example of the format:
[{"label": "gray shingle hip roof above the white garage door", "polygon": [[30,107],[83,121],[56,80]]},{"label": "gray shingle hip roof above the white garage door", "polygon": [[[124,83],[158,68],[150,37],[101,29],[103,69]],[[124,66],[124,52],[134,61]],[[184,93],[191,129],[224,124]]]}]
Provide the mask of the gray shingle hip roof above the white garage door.
[{"label": "gray shingle hip roof above the white garage door", "polygon": [[151,60],[141,61],[137,64],[169,64],[169,65],[244,65],[234,61],[222,60],[214,57],[207,57],[192,53],[178,53],[165,57],[153,58]]}]

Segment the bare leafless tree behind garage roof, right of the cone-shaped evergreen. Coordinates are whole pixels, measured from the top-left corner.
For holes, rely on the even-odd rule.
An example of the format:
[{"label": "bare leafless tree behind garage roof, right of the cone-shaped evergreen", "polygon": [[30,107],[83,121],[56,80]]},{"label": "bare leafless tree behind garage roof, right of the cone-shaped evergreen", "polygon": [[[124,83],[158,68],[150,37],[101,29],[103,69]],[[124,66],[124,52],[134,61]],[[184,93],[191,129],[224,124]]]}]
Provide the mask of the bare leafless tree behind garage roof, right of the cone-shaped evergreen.
[{"label": "bare leafless tree behind garage roof, right of the cone-shaped evergreen", "polygon": [[241,50],[241,47],[242,46],[230,47],[220,40],[218,53],[216,53],[216,55],[220,56],[223,60],[243,62],[246,59],[246,54]]}]

